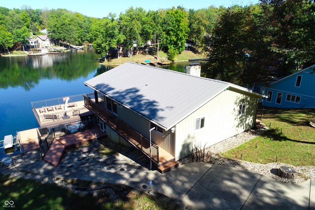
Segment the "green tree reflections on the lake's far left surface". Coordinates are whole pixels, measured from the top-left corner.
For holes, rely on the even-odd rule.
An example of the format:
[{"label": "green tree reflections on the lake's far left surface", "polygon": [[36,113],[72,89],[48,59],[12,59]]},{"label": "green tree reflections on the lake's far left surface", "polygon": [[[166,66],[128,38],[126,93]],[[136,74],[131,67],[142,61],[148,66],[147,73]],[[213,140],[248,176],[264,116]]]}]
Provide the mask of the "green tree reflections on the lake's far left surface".
[{"label": "green tree reflections on the lake's far left surface", "polygon": [[87,76],[98,64],[94,51],[67,52],[45,56],[1,57],[0,88],[23,87],[31,90],[40,79],[66,81]]}]

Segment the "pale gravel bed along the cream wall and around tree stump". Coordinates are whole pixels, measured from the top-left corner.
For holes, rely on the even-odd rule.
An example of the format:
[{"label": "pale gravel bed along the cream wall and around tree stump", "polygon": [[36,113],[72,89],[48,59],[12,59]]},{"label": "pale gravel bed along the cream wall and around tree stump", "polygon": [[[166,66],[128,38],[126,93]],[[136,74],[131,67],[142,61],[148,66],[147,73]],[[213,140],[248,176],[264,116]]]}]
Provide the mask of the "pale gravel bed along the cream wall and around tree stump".
[{"label": "pale gravel bed along the cream wall and around tree stump", "polygon": [[[235,135],[231,138],[228,138],[218,144],[212,145],[205,149],[205,154],[208,154],[205,157],[205,162],[213,163],[217,165],[223,165],[228,167],[234,167],[239,169],[245,169],[252,172],[257,172],[260,174],[267,175],[275,180],[282,181],[284,183],[302,183],[309,179],[315,179],[315,167],[314,166],[292,166],[285,163],[268,163],[268,164],[259,164],[252,163],[243,160],[234,160],[230,158],[222,157],[220,154],[227,150],[231,150],[239,145],[244,144],[245,142],[250,141],[252,138],[261,135],[265,130],[256,129],[244,131],[241,134]],[[186,164],[192,162],[191,155],[179,160],[180,164]],[[277,176],[277,172],[280,166],[288,166],[296,171],[294,179],[284,179]]]}]

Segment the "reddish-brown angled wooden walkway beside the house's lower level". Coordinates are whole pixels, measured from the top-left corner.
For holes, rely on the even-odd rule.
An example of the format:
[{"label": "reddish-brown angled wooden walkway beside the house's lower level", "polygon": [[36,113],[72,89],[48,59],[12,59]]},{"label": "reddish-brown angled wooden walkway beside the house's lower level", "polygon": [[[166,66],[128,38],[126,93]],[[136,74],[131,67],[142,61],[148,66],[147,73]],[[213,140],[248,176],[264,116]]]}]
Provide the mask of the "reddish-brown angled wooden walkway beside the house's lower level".
[{"label": "reddish-brown angled wooden walkway beside the house's lower level", "polygon": [[63,152],[66,148],[95,139],[95,133],[98,134],[99,137],[105,136],[101,130],[94,128],[55,138],[44,155],[43,160],[52,166],[57,167],[62,160]]}]

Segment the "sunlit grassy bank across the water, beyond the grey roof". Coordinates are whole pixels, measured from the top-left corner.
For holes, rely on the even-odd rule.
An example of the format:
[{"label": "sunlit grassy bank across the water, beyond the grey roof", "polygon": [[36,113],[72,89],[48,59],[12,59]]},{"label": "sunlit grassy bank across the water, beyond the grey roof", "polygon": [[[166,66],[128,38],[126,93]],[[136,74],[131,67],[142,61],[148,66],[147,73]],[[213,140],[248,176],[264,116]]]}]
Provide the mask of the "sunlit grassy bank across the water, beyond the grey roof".
[{"label": "sunlit grassy bank across the water, beyond the grey roof", "polygon": [[[169,60],[167,60],[166,53],[159,51],[158,56],[159,56],[159,61],[169,62]],[[175,57],[175,61],[184,61],[184,60],[197,59],[197,58],[204,58],[204,56],[194,54],[194,53],[189,52],[189,51],[183,51],[180,55]],[[123,64],[127,61],[135,62],[135,63],[141,63],[141,62],[144,62],[145,60],[150,60],[151,62],[157,62],[158,61],[154,56],[151,56],[151,55],[136,55],[136,56],[132,56],[131,58],[123,57],[120,59],[107,60],[107,61],[104,61],[103,64],[115,64],[115,65],[117,65],[117,64]]]}]

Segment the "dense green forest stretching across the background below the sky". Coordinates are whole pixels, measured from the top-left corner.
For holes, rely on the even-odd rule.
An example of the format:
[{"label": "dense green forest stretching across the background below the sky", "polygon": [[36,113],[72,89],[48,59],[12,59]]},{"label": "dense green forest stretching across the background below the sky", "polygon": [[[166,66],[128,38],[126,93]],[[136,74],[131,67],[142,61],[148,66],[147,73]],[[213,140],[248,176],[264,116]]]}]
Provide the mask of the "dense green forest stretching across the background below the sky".
[{"label": "dense green forest stretching across the background below the sky", "polygon": [[207,55],[203,76],[251,86],[314,64],[314,25],[314,0],[260,0],[198,10],[130,7],[101,19],[66,9],[0,7],[0,47],[15,49],[47,29],[61,42],[93,43],[102,56],[118,45],[131,49],[158,42],[173,60],[189,39],[195,52]]}]

